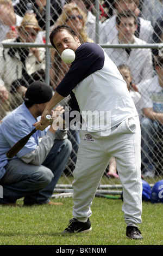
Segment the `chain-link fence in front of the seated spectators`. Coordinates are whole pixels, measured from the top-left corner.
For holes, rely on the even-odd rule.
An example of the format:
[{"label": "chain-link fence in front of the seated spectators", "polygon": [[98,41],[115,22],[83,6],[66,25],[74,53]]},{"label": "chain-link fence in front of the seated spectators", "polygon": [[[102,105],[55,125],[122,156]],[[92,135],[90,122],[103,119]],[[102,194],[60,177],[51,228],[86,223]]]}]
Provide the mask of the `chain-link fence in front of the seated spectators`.
[{"label": "chain-link fence in front of the seated spectators", "polygon": [[[32,81],[46,81],[55,91],[70,64],[62,62],[49,44],[49,33],[53,27],[66,23],[76,31],[81,43],[100,44],[118,66],[140,115],[142,175],[150,184],[161,180],[163,64],[161,60],[159,65],[156,63],[163,56],[162,7],[159,0],[0,0],[0,119],[23,102]],[[69,102],[67,97],[62,105],[69,106]],[[71,188],[80,141],[78,130],[68,130],[68,136],[73,149],[57,185],[61,189]],[[117,177],[112,159],[101,188],[116,188],[117,193],[121,188]]]}]

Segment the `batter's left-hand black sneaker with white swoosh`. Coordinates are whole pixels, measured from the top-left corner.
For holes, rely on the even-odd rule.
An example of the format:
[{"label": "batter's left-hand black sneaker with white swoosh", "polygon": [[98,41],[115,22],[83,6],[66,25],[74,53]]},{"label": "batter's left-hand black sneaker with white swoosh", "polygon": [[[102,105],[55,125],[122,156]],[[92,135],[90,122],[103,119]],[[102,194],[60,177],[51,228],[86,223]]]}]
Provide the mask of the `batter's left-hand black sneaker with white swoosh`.
[{"label": "batter's left-hand black sneaker with white swoosh", "polygon": [[68,227],[62,233],[87,233],[92,230],[89,218],[87,222],[79,222],[76,218],[70,219]]}]

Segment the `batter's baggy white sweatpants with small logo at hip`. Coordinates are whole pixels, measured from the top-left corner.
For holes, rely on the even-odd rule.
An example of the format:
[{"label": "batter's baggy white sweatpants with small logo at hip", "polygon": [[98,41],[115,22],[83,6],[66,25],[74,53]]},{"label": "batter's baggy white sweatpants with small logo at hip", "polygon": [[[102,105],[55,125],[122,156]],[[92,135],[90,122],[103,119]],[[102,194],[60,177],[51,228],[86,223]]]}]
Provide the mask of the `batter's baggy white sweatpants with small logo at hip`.
[{"label": "batter's baggy white sweatpants with small logo at hip", "polygon": [[86,222],[91,216],[92,200],[111,157],[115,157],[123,186],[124,221],[141,223],[141,132],[139,117],[129,118],[111,129],[108,136],[80,130],[81,142],[73,172],[73,216]]}]

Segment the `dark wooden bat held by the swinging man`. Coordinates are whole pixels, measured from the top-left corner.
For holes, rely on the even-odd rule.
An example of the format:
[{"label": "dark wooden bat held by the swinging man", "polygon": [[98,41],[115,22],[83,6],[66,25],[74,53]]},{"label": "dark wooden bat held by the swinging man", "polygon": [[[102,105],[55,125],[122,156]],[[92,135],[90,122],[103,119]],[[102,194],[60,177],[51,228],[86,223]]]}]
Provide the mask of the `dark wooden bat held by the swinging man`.
[{"label": "dark wooden bat held by the swinging man", "polygon": [[[51,115],[46,115],[47,120],[51,120],[52,116]],[[14,157],[28,142],[29,138],[36,132],[36,128],[32,130],[29,134],[24,136],[22,139],[18,140],[14,146],[12,146],[9,151],[6,153],[7,157],[11,159]]]}]

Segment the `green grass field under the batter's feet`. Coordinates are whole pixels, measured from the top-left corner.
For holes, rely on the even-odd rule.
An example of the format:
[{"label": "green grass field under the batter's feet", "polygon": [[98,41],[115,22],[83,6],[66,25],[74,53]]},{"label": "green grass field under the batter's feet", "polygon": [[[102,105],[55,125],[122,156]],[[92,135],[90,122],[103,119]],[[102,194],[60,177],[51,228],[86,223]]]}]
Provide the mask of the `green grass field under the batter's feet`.
[{"label": "green grass field under the batter's feet", "polygon": [[[61,235],[72,218],[72,198],[55,199],[63,206],[0,206],[0,245],[163,245],[162,207],[143,201],[141,241],[126,238],[126,224],[117,199],[95,198],[92,231]],[[17,203],[23,204],[22,200]]]}]

